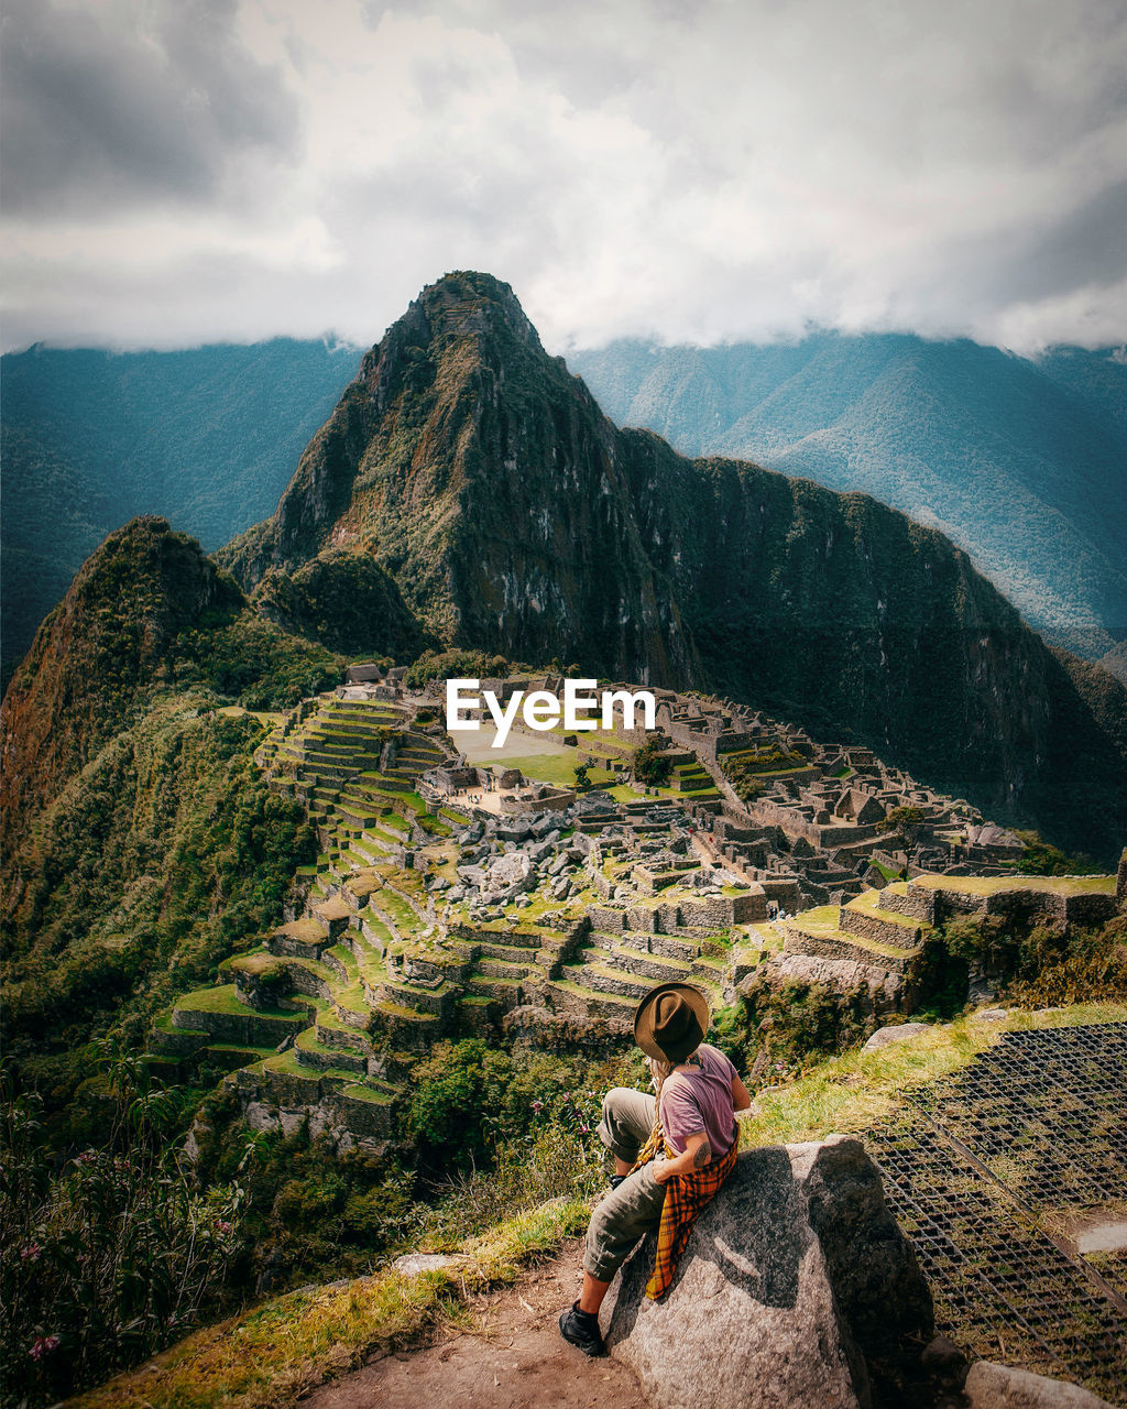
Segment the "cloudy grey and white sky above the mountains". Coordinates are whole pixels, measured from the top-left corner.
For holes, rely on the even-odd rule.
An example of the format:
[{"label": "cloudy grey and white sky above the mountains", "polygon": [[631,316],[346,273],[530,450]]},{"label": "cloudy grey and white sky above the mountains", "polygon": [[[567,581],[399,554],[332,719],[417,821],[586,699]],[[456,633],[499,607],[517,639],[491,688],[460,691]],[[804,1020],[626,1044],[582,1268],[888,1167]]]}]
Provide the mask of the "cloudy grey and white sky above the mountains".
[{"label": "cloudy grey and white sky above the mountains", "polygon": [[1127,340],[1124,0],[6,0],[3,344]]}]

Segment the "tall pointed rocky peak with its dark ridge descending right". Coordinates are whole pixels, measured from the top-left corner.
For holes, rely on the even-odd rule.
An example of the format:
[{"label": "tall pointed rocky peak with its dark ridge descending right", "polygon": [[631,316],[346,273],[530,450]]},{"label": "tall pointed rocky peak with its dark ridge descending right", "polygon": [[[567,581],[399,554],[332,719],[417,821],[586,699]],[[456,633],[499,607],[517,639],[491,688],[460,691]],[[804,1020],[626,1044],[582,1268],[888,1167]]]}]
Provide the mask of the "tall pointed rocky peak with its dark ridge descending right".
[{"label": "tall pointed rocky peak with its dark ridge descending right", "polygon": [[1114,681],[1082,697],[961,550],[876,500],[616,430],[486,275],[424,290],[221,561],[249,590],[341,550],[444,644],[733,693],[1089,848],[1127,827]]}]

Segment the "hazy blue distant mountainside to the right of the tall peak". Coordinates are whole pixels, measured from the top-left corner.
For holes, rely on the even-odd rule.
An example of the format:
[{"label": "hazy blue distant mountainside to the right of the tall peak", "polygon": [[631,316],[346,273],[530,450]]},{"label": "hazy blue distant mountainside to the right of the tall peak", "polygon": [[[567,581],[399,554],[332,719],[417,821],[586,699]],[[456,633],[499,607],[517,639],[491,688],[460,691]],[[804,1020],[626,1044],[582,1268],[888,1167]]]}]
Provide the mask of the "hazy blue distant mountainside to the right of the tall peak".
[{"label": "hazy blue distant mountainside to the right of the tall peak", "polygon": [[[1058,644],[1127,637],[1127,356],[965,340],[620,341],[569,365],[620,426],[862,490],[940,528]],[[1109,661],[1109,666],[1113,661]]]}]

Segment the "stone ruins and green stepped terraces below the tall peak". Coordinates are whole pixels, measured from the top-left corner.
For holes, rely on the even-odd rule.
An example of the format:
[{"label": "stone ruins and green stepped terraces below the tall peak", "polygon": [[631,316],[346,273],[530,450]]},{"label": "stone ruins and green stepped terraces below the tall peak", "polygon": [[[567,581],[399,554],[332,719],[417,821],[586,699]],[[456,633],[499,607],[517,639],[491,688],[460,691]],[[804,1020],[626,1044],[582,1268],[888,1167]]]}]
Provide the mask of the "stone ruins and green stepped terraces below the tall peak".
[{"label": "stone ruins and green stepped terraces below the tall peak", "polygon": [[[317,826],[300,907],[156,1023],[154,1065],[227,1072],[254,1126],[310,1120],[345,1144],[382,1141],[413,1064],[442,1036],[627,1034],[655,982],[696,983],[718,1007],[762,964],[910,1009],[926,934],[945,914],[1019,909],[1068,924],[1107,910],[1095,886],[927,874],[888,885],[879,859],[893,851],[872,837],[818,850],[809,827],[871,828],[866,809],[913,797],[938,836],[957,805],[864,750],[824,750],[720,702],[664,693],[659,719],[672,788],[552,796],[542,812],[528,793],[527,812],[497,814],[430,786],[459,762],[435,703],[400,681],[303,702],[256,754]],[[731,759],[779,755],[789,766],[771,795],[733,800]]]}]

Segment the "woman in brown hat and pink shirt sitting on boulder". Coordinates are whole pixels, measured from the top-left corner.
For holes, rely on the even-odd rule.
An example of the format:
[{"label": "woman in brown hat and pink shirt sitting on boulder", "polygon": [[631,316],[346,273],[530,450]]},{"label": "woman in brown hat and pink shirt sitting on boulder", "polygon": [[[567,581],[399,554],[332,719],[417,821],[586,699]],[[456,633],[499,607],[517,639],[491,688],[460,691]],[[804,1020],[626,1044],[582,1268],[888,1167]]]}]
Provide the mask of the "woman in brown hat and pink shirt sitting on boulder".
[{"label": "woman in brown hat and pink shirt sitting on boulder", "polygon": [[692,1220],[735,1165],[735,1112],[751,1096],[728,1058],[704,1044],[707,1029],[704,995],[687,983],[662,983],[634,1014],[656,1096],[616,1086],[603,1100],[599,1138],[616,1172],[587,1229],[583,1291],[559,1317],[564,1339],[587,1355],[606,1354],[599,1308],[638,1240],[658,1227],[645,1289],[656,1301],[673,1279]]}]

